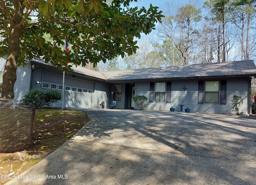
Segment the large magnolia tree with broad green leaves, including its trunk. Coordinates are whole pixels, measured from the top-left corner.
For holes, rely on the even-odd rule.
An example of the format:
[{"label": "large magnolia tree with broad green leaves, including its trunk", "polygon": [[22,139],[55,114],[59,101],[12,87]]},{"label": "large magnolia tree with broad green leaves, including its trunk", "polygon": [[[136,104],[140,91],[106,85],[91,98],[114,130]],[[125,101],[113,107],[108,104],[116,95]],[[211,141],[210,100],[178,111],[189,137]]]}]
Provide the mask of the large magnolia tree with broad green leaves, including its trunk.
[{"label": "large magnolia tree with broad green leaves, including its trunk", "polygon": [[[7,55],[2,98],[14,98],[16,69],[26,60],[70,70],[68,61],[95,66],[135,52],[134,37],[150,33],[163,16],[152,5],[129,8],[132,1],[137,0],[0,0],[0,57]],[[72,52],[63,50],[65,40]]]}]

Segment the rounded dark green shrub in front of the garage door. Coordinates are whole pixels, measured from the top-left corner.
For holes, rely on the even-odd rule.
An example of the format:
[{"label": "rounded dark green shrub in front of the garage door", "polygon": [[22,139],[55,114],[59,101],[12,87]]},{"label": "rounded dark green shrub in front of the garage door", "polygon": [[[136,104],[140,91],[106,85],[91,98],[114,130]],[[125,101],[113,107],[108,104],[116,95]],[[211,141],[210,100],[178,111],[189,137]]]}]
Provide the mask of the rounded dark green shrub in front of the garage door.
[{"label": "rounded dark green shrub in front of the garage door", "polygon": [[32,89],[30,92],[24,95],[23,103],[25,106],[35,106],[36,108],[40,108],[44,105],[50,105],[50,103],[54,103],[61,99],[61,93],[49,90],[37,90]]}]

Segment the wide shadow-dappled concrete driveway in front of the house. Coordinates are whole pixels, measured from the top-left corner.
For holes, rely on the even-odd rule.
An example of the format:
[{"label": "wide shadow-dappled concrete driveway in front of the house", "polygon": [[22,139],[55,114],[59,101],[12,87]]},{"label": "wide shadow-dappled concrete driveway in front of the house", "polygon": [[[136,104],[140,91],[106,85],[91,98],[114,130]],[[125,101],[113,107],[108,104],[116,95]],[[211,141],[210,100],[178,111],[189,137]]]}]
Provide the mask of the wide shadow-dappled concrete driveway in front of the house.
[{"label": "wide shadow-dappled concrete driveway in front of the house", "polygon": [[256,185],[256,117],[83,110],[72,139],[6,185]]}]

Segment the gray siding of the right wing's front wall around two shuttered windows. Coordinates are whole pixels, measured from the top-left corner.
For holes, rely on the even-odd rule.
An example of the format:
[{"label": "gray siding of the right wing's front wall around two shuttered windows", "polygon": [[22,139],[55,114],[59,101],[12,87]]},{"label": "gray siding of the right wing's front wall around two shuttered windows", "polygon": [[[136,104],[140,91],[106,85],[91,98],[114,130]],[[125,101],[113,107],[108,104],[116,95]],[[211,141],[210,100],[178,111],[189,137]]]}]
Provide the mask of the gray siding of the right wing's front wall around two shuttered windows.
[{"label": "gray siding of the right wing's front wall around two shuttered windows", "polygon": [[[214,80],[214,79],[211,79]],[[219,79],[218,79],[219,80]],[[225,80],[225,79],[221,79]],[[167,81],[157,81],[167,82]],[[243,104],[240,108],[241,114],[248,114],[248,99],[249,98],[249,79],[229,79],[227,80],[227,92],[226,92],[226,105],[220,103],[203,103],[198,104],[198,80],[172,80],[172,92],[171,103],[157,102],[150,103],[148,101],[146,109],[151,110],[170,110],[170,106],[175,106],[175,111],[180,111],[180,105],[183,106],[183,111],[186,107],[190,108],[192,112],[206,112],[206,113],[234,113],[232,112],[232,99],[234,95],[242,96]],[[188,88],[182,90],[183,86]],[[137,82],[136,83],[136,95],[145,95],[149,98],[150,82]],[[135,107],[138,109],[138,107]]]}]

